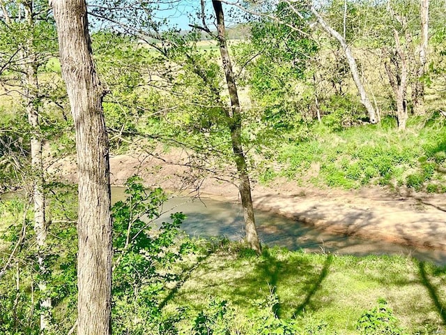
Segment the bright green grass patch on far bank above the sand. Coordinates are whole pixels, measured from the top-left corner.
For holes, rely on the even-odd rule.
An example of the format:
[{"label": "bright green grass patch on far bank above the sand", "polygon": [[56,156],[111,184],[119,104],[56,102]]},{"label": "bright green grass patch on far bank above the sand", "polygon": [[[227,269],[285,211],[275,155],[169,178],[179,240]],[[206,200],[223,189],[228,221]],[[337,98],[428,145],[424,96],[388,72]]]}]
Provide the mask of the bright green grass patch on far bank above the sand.
[{"label": "bright green grass patch on far bank above the sand", "polygon": [[[436,168],[446,161],[446,127],[434,118],[414,119],[405,132],[387,121],[342,131],[316,125],[312,140],[281,147],[279,175],[302,181],[311,172],[316,185],[347,189],[379,184],[443,193],[445,175]],[[310,170],[314,163],[318,171]]]}]

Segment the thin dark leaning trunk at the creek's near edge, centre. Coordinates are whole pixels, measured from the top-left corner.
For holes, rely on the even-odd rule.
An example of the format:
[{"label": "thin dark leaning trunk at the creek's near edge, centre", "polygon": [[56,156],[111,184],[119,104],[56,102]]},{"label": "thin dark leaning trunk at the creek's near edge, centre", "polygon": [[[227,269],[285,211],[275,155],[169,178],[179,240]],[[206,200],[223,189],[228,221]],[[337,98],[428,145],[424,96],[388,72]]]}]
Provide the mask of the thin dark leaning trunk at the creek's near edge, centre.
[{"label": "thin dark leaning trunk at the creek's near edge, centre", "polygon": [[238,177],[240,178],[240,198],[242,200],[243,214],[245,216],[245,232],[246,240],[249,247],[256,253],[261,253],[259,237],[257,236],[256,221],[254,218],[254,209],[252,207],[251,184],[249,182],[249,174],[245,160],[245,154],[242,146],[242,119],[240,112],[240,102],[238,101],[238,91],[236,80],[234,79],[231,58],[229,57],[228,45],[226,43],[224,25],[224,14],[222,3],[213,0],[215,16],[217,17],[217,32],[220,46],[220,54],[224,67],[224,75],[228,85],[229,98],[231,99],[231,108],[228,109],[229,130],[231,131],[231,144],[234,158],[237,165]]}]

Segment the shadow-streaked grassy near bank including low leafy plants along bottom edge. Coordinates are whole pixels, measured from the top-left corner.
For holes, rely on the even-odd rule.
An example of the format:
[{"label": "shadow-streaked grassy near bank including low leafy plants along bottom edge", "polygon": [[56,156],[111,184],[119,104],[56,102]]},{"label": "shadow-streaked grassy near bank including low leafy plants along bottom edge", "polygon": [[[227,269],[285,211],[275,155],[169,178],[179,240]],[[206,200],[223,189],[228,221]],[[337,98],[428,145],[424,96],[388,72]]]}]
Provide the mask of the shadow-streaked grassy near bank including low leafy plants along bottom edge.
[{"label": "shadow-streaked grassy near bank including low leafy plants along bottom edge", "polygon": [[445,280],[445,269],[410,258],[279,248],[259,258],[226,242],[208,249],[166,309],[190,315],[180,334],[433,334],[445,321]]}]

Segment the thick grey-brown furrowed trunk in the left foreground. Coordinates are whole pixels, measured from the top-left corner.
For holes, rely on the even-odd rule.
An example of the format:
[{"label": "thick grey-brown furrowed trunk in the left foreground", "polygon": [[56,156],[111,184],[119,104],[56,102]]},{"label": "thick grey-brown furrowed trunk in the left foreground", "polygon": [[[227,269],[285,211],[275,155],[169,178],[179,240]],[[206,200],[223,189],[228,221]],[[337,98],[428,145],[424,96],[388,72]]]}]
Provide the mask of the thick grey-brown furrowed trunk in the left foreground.
[{"label": "thick grey-brown furrowed trunk in the left foreground", "polygon": [[109,142],[93,64],[85,0],[52,1],[75,122],[79,175],[77,334],[111,334],[112,219]]}]

